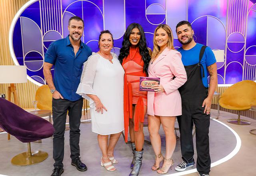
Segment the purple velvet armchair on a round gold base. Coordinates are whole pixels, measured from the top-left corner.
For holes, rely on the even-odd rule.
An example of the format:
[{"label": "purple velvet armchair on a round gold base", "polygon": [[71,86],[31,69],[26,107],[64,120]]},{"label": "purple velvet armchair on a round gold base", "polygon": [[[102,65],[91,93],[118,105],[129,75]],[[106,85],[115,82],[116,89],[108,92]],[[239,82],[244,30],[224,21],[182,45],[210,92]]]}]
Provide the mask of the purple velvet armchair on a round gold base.
[{"label": "purple velvet armchair on a round gold base", "polygon": [[30,114],[16,104],[0,98],[0,128],[21,142],[28,143],[28,152],[14,156],[12,164],[26,166],[42,162],[48,157],[46,152],[31,152],[30,149],[30,142],[52,136],[54,128],[47,120]]}]

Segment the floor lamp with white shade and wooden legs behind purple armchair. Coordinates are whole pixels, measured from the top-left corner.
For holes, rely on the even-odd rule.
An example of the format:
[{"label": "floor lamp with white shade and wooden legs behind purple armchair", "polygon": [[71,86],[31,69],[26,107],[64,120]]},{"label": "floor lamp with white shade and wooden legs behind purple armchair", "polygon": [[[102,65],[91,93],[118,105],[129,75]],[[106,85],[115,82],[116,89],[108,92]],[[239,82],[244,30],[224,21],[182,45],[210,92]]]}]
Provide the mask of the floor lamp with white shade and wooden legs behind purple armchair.
[{"label": "floor lamp with white shade and wooden legs behind purple armchair", "polygon": [[[13,94],[14,104],[19,106],[18,96],[15,83],[26,83],[27,68],[26,66],[0,65],[0,84],[10,84],[8,86],[7,100],[11,101]],[[10,140],[10,134],[8,134]]]}]

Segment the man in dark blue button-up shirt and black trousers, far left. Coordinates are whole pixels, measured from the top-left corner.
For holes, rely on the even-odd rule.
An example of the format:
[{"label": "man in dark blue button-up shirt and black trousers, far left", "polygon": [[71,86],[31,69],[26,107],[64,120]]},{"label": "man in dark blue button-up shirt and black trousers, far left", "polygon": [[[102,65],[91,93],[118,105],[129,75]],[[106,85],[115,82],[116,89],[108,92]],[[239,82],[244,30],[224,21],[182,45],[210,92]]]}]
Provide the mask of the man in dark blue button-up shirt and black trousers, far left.
[{"label": "man in dark blue button-up shirt and black trousers, far left", "polygon": [[[81,41],[84,21],[74,16],[68,21],[69,35],[52,42],[44,56],[44,77],[52,93],[53,158],[54,170],[51,176],[63,172],[64,132],[68,111],[70,124],[70,158],[72,166],[80,171],[87,167],[80,160],[80,118],[83,99],[76,94],[80,83],[83,63],[92,54],[91,49]],[[54,79],[51,68],[54,65]]]}]

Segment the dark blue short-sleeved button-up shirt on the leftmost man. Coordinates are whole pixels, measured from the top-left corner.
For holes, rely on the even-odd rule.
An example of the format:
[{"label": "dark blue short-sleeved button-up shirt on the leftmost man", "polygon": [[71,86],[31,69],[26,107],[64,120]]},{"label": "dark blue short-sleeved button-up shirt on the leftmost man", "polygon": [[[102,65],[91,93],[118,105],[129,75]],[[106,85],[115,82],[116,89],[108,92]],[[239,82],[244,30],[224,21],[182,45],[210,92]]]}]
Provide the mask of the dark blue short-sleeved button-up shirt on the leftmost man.
[{"label": "dark blue short-sleeved button-up shirt on the leftmost man", "polygon": [[82,97],[76,94],[76,90],[80,83],[82,66],[90,55],[92,50],[81,41],[75,56],[69,35],[50,44],[45,53],[44,62],[54,64],[53,83],[63,98],[76,101]]}]

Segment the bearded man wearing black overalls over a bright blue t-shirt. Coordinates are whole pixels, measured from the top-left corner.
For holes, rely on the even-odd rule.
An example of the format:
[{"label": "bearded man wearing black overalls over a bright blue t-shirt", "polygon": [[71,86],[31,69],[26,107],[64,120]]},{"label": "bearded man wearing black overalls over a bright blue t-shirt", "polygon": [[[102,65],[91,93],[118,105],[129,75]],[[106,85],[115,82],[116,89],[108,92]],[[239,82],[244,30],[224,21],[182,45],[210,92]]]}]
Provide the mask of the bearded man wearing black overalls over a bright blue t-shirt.
[{"label": "bearded man wearing black overalls over a bright blue t-shirt", "polygon": [[[182,115],[178,116],[180,128],[180,146],[182,162],[175,168],[177,171],[193,167],[194,147],[192,129],[196,127],[196,169],[200,176],[209,176],[209,126],[212,96],[217,85],[217,65],[212,50],[194,41],[191,24],[181,21],[176,26],[176,33],[182,47],[182,62],[188,80],[179,88],[182,99]],[[208,90],[207,70],[210,75]]]}]

